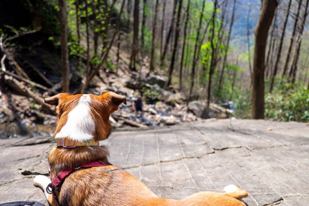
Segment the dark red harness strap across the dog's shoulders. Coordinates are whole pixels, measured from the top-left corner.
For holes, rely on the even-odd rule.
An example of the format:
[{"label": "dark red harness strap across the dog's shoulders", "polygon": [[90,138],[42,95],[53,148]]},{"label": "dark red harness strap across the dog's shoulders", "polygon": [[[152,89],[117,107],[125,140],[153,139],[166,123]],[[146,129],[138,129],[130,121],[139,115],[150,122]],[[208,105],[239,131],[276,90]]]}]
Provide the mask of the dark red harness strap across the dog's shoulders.
[{"label": "dark red harness strap across the dog's shoulders", "polygon": [[[54,195],[54,198],[55,200],[57,201],[57,203],[59,204],[59,200],[57,198],[57,195],[55,193],[55,190],[61,186],[61,184],[63,183],[63,181],[72,173],[74,172],[75,170],[79,169],[79,168],[91,168],[91,167],[99,167],[99,166],[110,166],[108,164],[105,164],[105,163],[101,163],[101,162],[98,162],[98,161],[94,161],[94,162],[90,162],[90,163],[87,163],[87,164],[83,164],[82,166],[80,167],[77,167],[77,168],[73,168],[73,169],[70,169],[70,170],[62,170],[61,172],[59,172],[57,174],[57,176],[53,179],[53,181],[51,183],[49,183],[49,185],[46,187],[46,192],[48,194],[53,194]],[[60,204],[59,204],[60,205]]]}]

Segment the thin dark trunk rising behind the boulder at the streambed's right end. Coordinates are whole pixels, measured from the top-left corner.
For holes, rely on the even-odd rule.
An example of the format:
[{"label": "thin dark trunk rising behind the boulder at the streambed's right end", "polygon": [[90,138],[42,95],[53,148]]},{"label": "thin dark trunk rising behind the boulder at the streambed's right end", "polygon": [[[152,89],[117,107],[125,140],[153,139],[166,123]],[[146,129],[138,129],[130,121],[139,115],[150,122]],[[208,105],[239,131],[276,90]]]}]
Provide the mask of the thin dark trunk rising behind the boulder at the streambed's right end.
[{"label": "thin dark trunk rising behind the boulder at the streambed's right end", "polygon": [[216,11],[217,11],[217,0],[214,0],[214,12],[212,16],[212,32],[210,37],[210,45],[211,45],[211,57],[210,57],[210,69],[209,69],[209,76],[208,76],[208,87],[207,87],[207,108],[209,108],[210,103],[210,90],[211,90],[211,80],[212,75],[214,74],[214,67],[217,61],[217,54],[216,49],[214,46],[214,32],[215,32],[215,19],[216,19]]}]

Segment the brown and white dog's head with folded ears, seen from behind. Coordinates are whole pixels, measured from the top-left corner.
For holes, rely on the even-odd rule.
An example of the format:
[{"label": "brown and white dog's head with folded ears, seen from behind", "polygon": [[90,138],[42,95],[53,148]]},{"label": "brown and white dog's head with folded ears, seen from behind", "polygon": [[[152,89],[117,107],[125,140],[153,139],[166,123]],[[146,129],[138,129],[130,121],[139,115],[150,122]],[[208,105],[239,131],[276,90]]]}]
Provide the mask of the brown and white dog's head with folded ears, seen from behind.
[{"label": "brown and white dog's head with folded ears, seen from behind", "polygon": [[118,109],[126,98],[113,92],[101,95],[71,95],[60,93],[45,98],[44,102],[55,105],[57,127],[54,138],[69,138],[80,142],[104,140],[111,132],[109,115]]}]

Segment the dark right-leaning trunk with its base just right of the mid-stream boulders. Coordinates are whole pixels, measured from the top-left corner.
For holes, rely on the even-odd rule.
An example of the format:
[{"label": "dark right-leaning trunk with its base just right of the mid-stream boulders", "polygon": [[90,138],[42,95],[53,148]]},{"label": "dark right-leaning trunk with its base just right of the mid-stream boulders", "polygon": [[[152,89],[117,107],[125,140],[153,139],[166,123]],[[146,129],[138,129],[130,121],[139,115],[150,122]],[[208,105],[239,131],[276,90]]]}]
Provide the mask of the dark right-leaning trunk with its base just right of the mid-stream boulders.
[{"label": "dark right-leaning trunk with its base just right of the mid-stream boulders", "polygon": [[173,69],[174,69],[175,56],[176,56],[176,50],[177,50],[177,44],[178,44],[178,37],[179,37],[179,33],[180,33],[179,22],[180,22],[181,8],[182,8],[182,0],[179,0],[177,20],[176,20],[176,32],[175,32],[175,39],[174,39],[174,47],[173,47],[173,52],[172,52],[171,64],[170,64],[170,67],[168,68],[168,78],[167,78],[165,88],[168,88],[171,84],[171,78],[172,78],[172,73],[173,73]]}]

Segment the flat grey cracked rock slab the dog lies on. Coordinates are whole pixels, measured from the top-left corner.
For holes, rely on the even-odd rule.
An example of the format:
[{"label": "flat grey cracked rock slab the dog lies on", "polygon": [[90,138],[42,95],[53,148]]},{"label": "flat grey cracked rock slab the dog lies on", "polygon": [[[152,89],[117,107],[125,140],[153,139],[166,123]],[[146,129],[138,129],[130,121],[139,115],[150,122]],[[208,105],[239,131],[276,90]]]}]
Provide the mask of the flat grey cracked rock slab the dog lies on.
[{"label": "flat grey cracked rock slab the dog lies on", "polygon": [[[156,195],[181,199],[198,191],[248,191],[248,205],[309,205],[309,124],[204,120],[172,127],[113,132],[100,142],[110,162]],[[32,186],[47,174],[50,138],[0,139],[0,203],[47,204]]]}]

